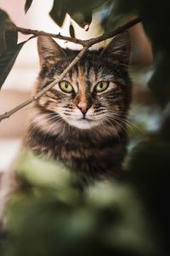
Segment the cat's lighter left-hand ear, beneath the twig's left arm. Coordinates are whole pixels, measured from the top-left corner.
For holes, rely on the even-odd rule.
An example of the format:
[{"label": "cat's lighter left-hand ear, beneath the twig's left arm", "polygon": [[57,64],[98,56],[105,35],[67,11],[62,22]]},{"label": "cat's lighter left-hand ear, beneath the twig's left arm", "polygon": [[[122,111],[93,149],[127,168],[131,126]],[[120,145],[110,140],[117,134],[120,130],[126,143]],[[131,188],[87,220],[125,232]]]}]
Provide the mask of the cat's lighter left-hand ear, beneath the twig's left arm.
[{"label": "cat's lighter left-hand ear, beneath the twig's left arm", "polygon": [[65,58],[64,49],[62,49],[54,39],[46,36],[37,37],[37,50],[41,64],[48,61],[50,57],[56,57],[59,60]]}]

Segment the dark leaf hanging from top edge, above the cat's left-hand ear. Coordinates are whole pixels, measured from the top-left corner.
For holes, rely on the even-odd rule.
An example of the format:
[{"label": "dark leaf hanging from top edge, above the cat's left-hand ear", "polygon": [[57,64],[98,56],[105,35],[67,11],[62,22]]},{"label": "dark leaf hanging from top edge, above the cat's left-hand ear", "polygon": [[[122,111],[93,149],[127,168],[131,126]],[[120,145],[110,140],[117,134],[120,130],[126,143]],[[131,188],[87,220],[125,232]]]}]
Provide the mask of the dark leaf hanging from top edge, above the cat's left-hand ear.
[{"label": "dark leaf hanging from top edge, above the cat's left-hand ear", "polygon": [[54,1],[49,15],[57,25],[62,26],[66,15],[66,2],[63,0]]}]

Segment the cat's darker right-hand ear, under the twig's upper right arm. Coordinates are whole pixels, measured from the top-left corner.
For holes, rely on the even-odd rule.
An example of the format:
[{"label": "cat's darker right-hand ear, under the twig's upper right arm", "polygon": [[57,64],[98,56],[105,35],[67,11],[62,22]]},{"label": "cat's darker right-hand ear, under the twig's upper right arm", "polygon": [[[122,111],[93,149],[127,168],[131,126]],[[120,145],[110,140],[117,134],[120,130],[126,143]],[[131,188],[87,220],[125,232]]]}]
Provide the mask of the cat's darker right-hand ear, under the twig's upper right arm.
[{"label": "cat's darker right-hand ear, under the twig's upper right arm", "polygon": [[111,43],[103,49],[101,55],[111,62],[119,62],[127,67],[130,60],[130,38],[128,32],[122,32],[111,40]]}]

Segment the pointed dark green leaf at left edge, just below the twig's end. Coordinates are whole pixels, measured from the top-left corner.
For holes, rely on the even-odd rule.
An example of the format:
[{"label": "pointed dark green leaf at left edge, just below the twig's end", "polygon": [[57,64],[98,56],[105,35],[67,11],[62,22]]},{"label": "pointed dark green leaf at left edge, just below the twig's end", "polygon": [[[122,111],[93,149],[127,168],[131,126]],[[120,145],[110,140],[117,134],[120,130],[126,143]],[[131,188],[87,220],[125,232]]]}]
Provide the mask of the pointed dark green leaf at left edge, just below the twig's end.
[{"label": "pointed dark green leaf at left edge, just below the twig's end", "polygon": [[14,61],[16,60],[20,49],[26,42],[27,41],[17,44],[13,49],[7,49],[5,52],[3,52],[3,55],[0,56],[0,88],[13,67]]}]

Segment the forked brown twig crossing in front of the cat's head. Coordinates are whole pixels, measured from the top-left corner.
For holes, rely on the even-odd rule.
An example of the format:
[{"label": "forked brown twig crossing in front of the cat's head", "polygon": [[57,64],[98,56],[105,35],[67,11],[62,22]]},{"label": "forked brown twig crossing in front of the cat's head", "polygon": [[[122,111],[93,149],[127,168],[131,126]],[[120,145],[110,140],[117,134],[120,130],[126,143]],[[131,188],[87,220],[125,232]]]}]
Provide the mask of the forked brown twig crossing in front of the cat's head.
[{"label": "forked brown twig crossing in front of the cat's head", "polygon": [[16,30],[18,32],[22,32],[22,33],[25,33],[25,34],[33,34],[35,37],[37,37],[39,35],[43,35],[43,36],[49,36],[49,37],[53,37],[53,38],[59,38],[59,39],[67,40],[67,41],[70,41],[70,42],[73,42],[73,43],[76,43],[76,44],[82,44],[83,48],[78,53],[76,58],[73,61],[71,61],[69,66],[65,68],[64,72],[59,75],[58,79],[55,79],[52,83],[48,84],[47,87],[40,90],[37,93],[37,95],[32,96],[31,99],[28,99],[26,102],[22,102],[20,105],[16,106],[15,108],[11,109],[10,111],[1,114],[0,115],[0,122],[3,119],[9,118],[12,114],[18,112],[21,108],[26,107],[26,105],[30,104],[31,102],[35,102],[38,98],[40,98],[48,90],[50,90],[52,87],[54,87],[55,84],[59,83],[59,81],[64,78],[65,74],[69,70],[71,70],[71,67],[73,67],[77,63],[77,61],[79,61],[82,58],[82,55],[84,55],[86,53],[86,51],[88,50],[89,47],[91,47],[92,45],[97,44],[101,41],[104,41],[105,39],[112,38],[112,37],[116,36],[117,34],[125,31],[129,27],[132,27],[132,26],[136,25],[139,22],[141,22],[141,20],[139,18],[133,19],[133,20],[127,22],[127,24],[125,24],[123,26],[120,26],[120,27],[117,27],[116,30],[114,30],[112,32],[105,33],[102,36],[99,36],[98,38],[91,38],[89,40],[84,40],[84,41],[80,40],[80,39],[77,39],[77,38],[64,37],[64,36],[61,36],[60,34],[56,35],[56,34],[52,34],[52,33],[40,32],[40,31],[37,31],[37,30],[31,30],[31,29],[16,27]]}]

